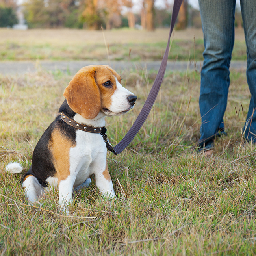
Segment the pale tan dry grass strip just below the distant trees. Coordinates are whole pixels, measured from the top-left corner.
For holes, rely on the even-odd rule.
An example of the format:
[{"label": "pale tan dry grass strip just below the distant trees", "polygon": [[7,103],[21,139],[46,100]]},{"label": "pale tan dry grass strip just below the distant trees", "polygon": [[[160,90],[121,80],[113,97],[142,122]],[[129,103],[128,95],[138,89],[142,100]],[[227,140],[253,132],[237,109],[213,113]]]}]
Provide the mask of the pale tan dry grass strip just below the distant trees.
[{"label": "pale tan dry grass strip just below the distant trees", "polygon": [[[237,32],[238,34],[239,32]],[[145,30],[104,30],[106,41],[114,43],[159,43],[167,40],[169,30],[157,29],[155,32]],[[77,29],[30,29],[10,30],[0,29],[0,43],[16,42],[18,44],[50,44],[55,46],[78,46],[87,44],[104,44],[101,30],[77,30]],[[176,31],[174,39],[191,40],[202,39],[202,30],[189,29],[187,31]]]}]

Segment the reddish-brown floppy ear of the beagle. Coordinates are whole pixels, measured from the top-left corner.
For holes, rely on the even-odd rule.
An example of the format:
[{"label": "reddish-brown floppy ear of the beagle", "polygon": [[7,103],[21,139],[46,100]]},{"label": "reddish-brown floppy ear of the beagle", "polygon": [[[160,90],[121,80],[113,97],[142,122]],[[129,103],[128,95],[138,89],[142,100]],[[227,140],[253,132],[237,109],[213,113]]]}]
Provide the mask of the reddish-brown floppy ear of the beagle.
[{"label": "reddish-brown floppy ear of the beagle", "polygon": [[70,108],[86,119],[95,118],[100,112],[100,90],[94,72],[79,72],[65,89],[63,96]]}]

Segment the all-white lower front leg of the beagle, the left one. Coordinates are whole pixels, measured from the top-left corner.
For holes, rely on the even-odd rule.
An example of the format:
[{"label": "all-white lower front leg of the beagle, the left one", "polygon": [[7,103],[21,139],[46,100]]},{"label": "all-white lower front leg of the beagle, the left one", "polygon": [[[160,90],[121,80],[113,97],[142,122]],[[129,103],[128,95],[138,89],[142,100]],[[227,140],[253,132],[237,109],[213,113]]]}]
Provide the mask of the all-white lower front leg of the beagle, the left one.
[{"label": "all-white lower front leg of the beagle, the left one", "polygon": [[68,208],[70,204],[72,204],[73,198],[73,186],[74,186],[74,178],[69,175],[65,180],[59,181],[59,204],[61,206],[61,210],[68,214]]}]

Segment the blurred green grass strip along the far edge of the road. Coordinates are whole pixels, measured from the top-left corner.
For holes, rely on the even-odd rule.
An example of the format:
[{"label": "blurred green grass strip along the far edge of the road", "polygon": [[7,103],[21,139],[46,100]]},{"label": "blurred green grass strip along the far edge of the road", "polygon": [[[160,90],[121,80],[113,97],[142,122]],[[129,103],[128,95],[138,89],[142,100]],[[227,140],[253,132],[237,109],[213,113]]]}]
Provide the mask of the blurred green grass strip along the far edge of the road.
[{"label": "blurred green grass strip along the far edge of the road", "polygon": [[[146,61],[161,60],[166,48],[166,42],[161,43],[127,43],[108,45],[110,59],[116,61]],[[187,61],[188,56],[203,60],[204,42],[174,40],[169,54],[170,60]],[[0,60],[104,60],[107,58],[104,44],[79,46],[28,45],[2,43],[0,44]],[[233,60],[246,60],[245,43],[236,41],[232,55]]]}]

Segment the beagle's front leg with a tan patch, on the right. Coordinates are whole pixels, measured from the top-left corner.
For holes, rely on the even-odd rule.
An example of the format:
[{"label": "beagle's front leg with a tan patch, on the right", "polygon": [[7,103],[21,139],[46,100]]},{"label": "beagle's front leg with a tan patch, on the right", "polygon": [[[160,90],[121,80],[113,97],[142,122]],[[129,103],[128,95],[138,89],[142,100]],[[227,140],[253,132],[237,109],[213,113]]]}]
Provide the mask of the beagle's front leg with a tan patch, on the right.
[{"label": "beagle's front leg with a tan patch, on the right", "polygon": [[113,183],[108,171],[108,163],[106,162],[103,166],[98,163],[100,162],[95,163],[93,166],[96,186],[104,197],[115,198]]}]

